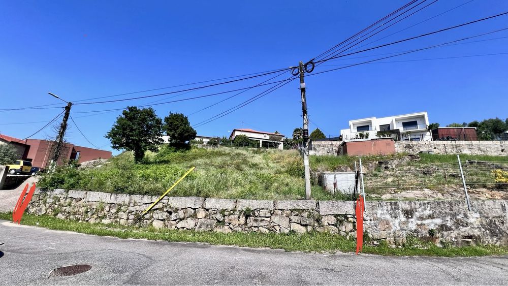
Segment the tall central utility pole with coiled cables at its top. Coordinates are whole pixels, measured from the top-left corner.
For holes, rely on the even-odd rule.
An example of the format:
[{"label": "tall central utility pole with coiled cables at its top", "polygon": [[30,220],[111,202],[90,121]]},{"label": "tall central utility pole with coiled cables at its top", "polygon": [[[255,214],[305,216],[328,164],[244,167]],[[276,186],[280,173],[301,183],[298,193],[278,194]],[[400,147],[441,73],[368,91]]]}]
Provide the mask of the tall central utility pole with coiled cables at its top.
[{"label": "tall central utility pole with coiled cables at its top", "polygon": [[[313,63],[312,63],[313,66]],[[300,61],[298,67],[300,74],[300,93],[302,96],[303,113],[303,168],[305,170],[305,199],[310,200],[310,166],[309,166],[309,116],[307,115],[307,102],[305,99],[305,81],[303,79],[306,67]],[[313,68],[312,68],[313,69]]]}]

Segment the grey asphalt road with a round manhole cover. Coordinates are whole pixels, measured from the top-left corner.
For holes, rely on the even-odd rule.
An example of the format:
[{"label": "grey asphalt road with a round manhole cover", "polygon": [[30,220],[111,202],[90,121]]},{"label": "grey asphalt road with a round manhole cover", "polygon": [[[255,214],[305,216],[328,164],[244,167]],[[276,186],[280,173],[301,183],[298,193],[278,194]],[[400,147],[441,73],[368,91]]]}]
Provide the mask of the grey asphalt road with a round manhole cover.
[{"label": "grey asphalt road with a round manhole cover", "polygon": [[[0,284],[507,284],[508,257],[285,252],[100,237],[0,220]],[[1,253],[0,253],[1,255]],[[68,277],[49,273],[89,264]]]}]

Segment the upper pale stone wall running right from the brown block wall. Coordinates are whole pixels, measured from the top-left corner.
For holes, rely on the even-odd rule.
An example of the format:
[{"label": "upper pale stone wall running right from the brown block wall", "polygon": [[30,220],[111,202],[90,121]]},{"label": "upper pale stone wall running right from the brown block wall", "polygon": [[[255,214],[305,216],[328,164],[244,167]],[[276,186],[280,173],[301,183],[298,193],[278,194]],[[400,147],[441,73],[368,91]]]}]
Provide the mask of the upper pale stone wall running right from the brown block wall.
[{"label": "upper pale stone wall running right from the brown block wall", "polygon": [[508,141],[397,141],[395,151],[508,156]]}]

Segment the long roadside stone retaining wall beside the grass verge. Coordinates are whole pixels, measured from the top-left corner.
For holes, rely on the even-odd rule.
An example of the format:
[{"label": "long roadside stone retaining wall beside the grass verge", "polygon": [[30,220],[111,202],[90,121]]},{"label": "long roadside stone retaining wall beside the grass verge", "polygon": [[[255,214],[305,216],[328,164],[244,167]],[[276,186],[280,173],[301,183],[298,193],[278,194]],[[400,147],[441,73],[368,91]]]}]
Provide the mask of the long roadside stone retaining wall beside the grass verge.
[{"label": "long roadside stone retaining wall beside the grass verge", "polygon": [[[132,224],[155,196],[78,190],[36,190],[29,213],[89,223]],[[408,236],[455,245],[508,245],[508,201],[367,202],[364,229],[374,240],[403,244]],[[140,224],[155,228],[217,232],[338,233],[356,237],[355,202],[255,201],[167,197]]]}]

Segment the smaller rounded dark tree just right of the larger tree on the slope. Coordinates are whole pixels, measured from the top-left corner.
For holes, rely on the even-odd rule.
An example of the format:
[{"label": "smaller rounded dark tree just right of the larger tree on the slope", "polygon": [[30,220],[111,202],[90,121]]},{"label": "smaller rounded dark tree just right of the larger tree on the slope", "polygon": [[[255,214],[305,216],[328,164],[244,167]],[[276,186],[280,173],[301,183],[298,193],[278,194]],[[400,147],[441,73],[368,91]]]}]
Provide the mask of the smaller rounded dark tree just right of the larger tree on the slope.
[{"label": "smaller rounded dark tree just right of the larger tree on the slope", "polygon": [[164,118],[164,131],[172,143],[183,144],[196,138],[196,130],[190,126],[187,116],[182,113],[169,113]]}]

